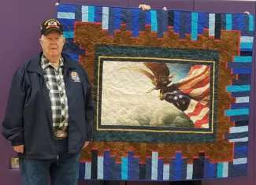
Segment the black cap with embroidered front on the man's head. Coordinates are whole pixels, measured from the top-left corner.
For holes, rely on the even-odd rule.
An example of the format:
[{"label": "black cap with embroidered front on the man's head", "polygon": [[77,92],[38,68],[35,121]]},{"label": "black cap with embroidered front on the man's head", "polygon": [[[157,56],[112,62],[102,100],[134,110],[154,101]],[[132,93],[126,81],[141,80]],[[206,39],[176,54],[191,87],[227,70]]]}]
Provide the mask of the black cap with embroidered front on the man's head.
[{"label": "black cap with embroidered front on the man's head", "polygon": [[63,34],[62,24],[58,20],[49,19],[43,21],[41,25],[41,35],[47,35],[52,30],[60,31],[61,34]]}]

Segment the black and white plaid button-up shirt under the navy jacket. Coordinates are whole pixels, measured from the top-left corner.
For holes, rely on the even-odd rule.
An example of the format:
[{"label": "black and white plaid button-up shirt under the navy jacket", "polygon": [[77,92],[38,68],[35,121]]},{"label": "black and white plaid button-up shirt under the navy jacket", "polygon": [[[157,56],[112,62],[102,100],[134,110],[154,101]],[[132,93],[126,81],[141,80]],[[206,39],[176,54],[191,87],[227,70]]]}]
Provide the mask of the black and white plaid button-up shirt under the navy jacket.
[{"label": "black and white plaid button-up shirt under the navy jacket", "polygon": [[69,124],[69,107],[63,80],[63,65],[62,57],[59,67],[51,65],[44,55],[41,57],[43,76],[49,90],[54,131],[64,131]]}]

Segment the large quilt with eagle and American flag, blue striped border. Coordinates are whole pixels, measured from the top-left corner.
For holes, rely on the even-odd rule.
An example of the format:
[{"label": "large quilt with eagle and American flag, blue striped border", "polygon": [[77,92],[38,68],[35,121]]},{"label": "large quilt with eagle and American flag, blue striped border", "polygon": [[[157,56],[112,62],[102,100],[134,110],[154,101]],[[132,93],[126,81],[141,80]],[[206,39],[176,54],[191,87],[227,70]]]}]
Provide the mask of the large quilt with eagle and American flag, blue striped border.
[{"label": "large quilt with eagle and American flag, blue striped border", "polygon": [[60,3],[58,20],[95,105],[79,179],[247,176],[253,15]]}]

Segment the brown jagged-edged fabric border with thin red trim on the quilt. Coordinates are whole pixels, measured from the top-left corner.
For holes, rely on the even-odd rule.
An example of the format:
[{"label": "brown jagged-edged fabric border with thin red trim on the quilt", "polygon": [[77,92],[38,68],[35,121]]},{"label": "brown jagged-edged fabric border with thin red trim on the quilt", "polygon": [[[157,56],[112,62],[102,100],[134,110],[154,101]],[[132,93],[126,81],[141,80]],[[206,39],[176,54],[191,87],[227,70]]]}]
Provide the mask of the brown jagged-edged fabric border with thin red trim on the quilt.
[{"label": "brown jagged-edged fabric border with thin red trim on the quilt", "polygon": [[[135,155],[139,155],[142,161],[151,155],[152,150],[158,151],[158,155],[164,157],[165,161],[169,157],[174,157],[176,151],[182,151],[182,155],[187,157],[188,162],[193,161],[193,157],[198,157],[199,151],[204,151],[210,157],[211,162],[232,161],[233,143],[224,140],[223,135],[229,133],[229,128],[233,126],[228,117],[224,116],[224,110],[229,108],[234,99],[225,91],[225,87],[230,85],[231,80],[236,76],[231,75],[231,69],[226,68],[228,61],[232,61],[232,56],[239,54],[239,31],[222,31],[221,40],[214,40],[209,37],[208,29],[204,29],[203,35],[198,36],[198,40],[191,41],[191,36],[186,35],[180,40],[179,35],[173,33],[173,28],[164,34],[162,39],[157,38],[157,33],[151,32],[150,27],[140,32],[136,38],[132,37],[132,31],[126,31],[126,26],[121,25],[120,31],[115,31],[110,37],[107,31],[102,31],[101,24],[95,23],[75,23],[74,42],[86,49],[86,56],[80,57],[80,63],[87,70],[91,82],[94,82],[95,72],[95,46],[97,45],[120,45],[120,46],[158,46],[173,49],[195,49],[195,50],[218,50],[219,51],[219,78],[218,78],[218,102],[217,105],[217,139],[215,143],[140,143],[140,142],[91,142],[87,149],[82,151],[81,160],[91,161],[91,149],[98,149],[98,155],[103,154],[103,150],[110,150],[111,155],[121,161],[121,156],[126,156],[128,150],[134,150]],[[232,39],[231,39],[232,38]]]}]

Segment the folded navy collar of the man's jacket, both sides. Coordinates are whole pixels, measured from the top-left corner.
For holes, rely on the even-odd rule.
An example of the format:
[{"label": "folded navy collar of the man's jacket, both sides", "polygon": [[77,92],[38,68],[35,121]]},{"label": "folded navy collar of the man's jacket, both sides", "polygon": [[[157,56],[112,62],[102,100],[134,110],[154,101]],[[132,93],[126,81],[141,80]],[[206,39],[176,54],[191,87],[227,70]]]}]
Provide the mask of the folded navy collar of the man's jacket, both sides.
[{"label": "folded navy collar of the man's jacket, both sides", "polygon": [[[37,72],[40,75],[43,75],[43,69],[41,66],[41,57],[43,52],[40,52],[32,60],[28,63],[28,71],[29,72]],[[64,71],[66,72],[69,68],[76,68],[76,61],[73,61],[68,55],[62,52],[62,57],[64,59]]]}]

